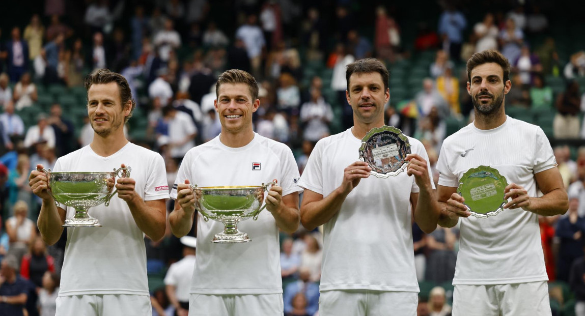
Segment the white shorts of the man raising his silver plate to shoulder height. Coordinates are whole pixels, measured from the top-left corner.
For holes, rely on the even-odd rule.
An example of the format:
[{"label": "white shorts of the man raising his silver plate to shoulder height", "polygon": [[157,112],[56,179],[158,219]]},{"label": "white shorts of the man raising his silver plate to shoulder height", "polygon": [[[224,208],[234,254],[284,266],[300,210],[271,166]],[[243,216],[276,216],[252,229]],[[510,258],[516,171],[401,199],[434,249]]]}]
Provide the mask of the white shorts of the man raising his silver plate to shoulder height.
[{"label": "white shorts of the man raising his silver plate to shoulder height", "polygon": [[418,294],[329,290],[319,296],[319,316],[417,316]]}]

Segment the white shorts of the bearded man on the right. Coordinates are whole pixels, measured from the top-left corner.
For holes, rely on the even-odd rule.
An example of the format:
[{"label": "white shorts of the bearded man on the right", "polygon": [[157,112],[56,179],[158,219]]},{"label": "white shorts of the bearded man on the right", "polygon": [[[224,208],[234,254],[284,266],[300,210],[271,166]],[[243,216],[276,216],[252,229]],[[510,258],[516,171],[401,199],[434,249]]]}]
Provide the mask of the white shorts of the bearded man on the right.
[{"label": "white shorts of the bearded man on the right", "polygon": [[453,316],[550,316],[546,281],[488,286],[456,285]]}]

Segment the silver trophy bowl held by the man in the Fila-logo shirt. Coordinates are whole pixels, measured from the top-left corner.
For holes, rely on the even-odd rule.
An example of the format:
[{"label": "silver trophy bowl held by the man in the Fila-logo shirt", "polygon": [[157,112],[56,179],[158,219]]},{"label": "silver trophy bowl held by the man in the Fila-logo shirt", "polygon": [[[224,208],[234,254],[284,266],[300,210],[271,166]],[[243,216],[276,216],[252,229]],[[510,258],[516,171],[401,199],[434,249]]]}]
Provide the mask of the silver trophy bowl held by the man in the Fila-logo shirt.
[{"label": "silver trophy bowl held by the man in the Fila-logo shirt", "polygon": [[195,209],[203,215],[207,222],[209,218],[222,222],[224,229],[216,233],[211,242],[214,243],[238,243],[249,242],[245,232],[238,231],[238,222],[253,217],[258,219],[260,212],[266,207],[262,206],[264,191],[276,183],[270,182],[261,186],[220,186],[197,187],[190,184],[195,193]]}]

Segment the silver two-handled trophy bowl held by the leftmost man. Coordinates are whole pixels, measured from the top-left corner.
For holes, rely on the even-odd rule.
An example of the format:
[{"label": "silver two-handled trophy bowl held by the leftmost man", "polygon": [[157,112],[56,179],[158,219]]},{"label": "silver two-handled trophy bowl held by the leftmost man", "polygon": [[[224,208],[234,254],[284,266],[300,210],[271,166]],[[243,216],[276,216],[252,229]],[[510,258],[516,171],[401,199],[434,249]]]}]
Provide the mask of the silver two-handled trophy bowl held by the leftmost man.
[{"label": "silver two-handled trophy bowl held by the leftmost man", "polygon": [[[108,179],[130,176],[130,167],[113,169],[112,172],[51,172],[43,169],[49,180],[49,191],[55,204],[75,208],[75,215],[65,219],[64,227],[101,227],[97,218],[87,214],[89,208],[105,203],[116,194],[108,187]],[[120,174],[122,173],[122,174]]]}]

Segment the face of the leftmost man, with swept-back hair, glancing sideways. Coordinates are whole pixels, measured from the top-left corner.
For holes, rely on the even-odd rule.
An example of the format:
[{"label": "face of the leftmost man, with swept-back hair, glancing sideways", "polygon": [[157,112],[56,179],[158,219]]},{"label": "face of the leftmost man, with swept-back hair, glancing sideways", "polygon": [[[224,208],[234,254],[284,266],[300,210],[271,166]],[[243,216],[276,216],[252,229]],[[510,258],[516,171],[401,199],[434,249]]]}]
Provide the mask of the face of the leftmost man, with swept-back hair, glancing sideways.
[{"label": "face of the leftmost man, with swept-back hair, glancing sideways", "polygon": [[87,99],[87,113],[96,134],[107,137],[112,133],[123,133],[124,119],[130,115],[132,105],[122,107],[118,84],[92,84]]}]

